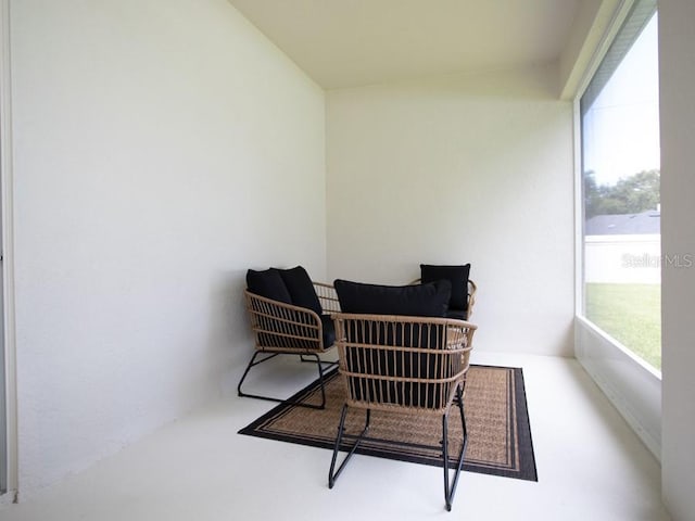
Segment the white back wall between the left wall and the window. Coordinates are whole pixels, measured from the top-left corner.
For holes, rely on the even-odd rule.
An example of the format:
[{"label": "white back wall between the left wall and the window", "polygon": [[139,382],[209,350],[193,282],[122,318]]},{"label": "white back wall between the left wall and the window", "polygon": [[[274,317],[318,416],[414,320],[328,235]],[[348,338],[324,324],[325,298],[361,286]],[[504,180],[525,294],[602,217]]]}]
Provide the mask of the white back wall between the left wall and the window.
[{"label": "white back wall between the left wall and the window", "polygon": [[572,109],[557,67],[327,94],[328,272],[472,264],[477,350],[572,354]]}]

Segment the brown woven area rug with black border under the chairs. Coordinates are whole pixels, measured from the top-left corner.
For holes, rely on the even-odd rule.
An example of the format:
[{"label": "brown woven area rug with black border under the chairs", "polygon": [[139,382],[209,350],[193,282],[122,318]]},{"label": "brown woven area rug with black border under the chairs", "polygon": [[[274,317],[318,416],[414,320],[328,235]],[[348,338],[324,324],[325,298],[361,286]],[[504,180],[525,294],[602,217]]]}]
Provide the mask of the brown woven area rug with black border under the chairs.
[{"label": "brown woven area rug with black border under the chairs", "polygon": [[[332,449],[344,389],[337,370],[325,380],[325,409],[280,404],[241,429],[239,434]],[[291,399],[319,404],[318,380]],[[468,428],[464,470],[538,481],[521,368],[471,365],[464,404]],[[357,434],[363,425],[364,411],[350,409],[346,432]],[[440,444],[441,425],[441,417],[438,416],[372,411],[369,436],[357,454],[441,467],[441,449],[430,448]],[[448,419],[452,468],[456,465],[462,439],[458,407],[452,407]],[[389,445],[384,441],[397,441],[404,445]]]}]

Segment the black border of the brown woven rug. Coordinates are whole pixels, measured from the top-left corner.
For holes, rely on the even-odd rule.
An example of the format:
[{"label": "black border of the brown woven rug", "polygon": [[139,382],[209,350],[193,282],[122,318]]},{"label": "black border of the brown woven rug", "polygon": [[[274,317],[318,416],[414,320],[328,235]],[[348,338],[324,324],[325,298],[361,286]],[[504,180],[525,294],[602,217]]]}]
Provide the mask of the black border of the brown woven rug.
[{"label": "black border of the brown woven rug", "polygon": [[[505,470],[496,467],[486,467],[486,466],[477,465],[477,463],[470,463],[465,460],[464,460],[463,470],[466,470],[469,472],[476,472],[480,474],[486,474],[486,475],[498,475],[502,478],[514,478],[522,481],[538,482],[535,453],[533,448],[533,439],[531,436],[531,423],[529,419],[526,385],[523,381],[523,369],[521,367],[494,366],[489,364],[471,364],[471,367],[507,369],[507,370],[514,371],[514,376],[515,376],[514,392],[516,397],[515,405],[517,410],[516,417],[517,417],[517,431],[518,431],[517,437],[519,441],[525,439],[528,440],[528,444],[525,444],[523,455],[521,454],[516,455],[519,461],[519,469],[517,471]],[[331,371],[329,371],[324,376],[324,379],[329,380],[334,376],[337,376],[337,373],[338,373],[338,369],[337,368],[332,369]],[[274,441],[280,441],[286,443],[294,443],[298,445],[327,448],[332,450],[334,446],[334,442],[327,442],[325,439],[312,440],[306,437],[305,435],[302,435],[302,436],[293,436],[291,434],[280,435],[280,434],[266,433],[264,431],[256,431],[258,425],[261,425],[262,423],[265,423],[268,419],[278,416],[278,414],[282,412],[283,410],[292,407],[292,404],[289,404],[289,402],[298,402],[302,397],[304,397],[304,395],[312,392],[315,389],[315,385],[317,382],[318,380],[314,380],[313,382],[307,384],[304,389],[298,391],[292,396],[290,396],[287,399],[287,402],[276,405],[270,410],[268,410],[267,412],[263,414],[261,417],[253,420],[247,427],[240,429],[237,433],[248,435],[248,436],[253,436],[253,437],[261,437],[265,440],[274,440]],[[521,443],[519,443],[519,446],[521,446]],[[380,458],[397,460],[397,461],[407,461],[413,463],[441,467],[441,460],[435,461],[427,457],[405,455],[405,454],[402,455],[400,453],[393,453],[393,452],[384,453],[383,450],[380,450],[378,448],[358,447],[356,453],[365,456],[372,456],[372,457],[380,457]],[[453,461],[450,462],[450,466],[452,465],[454,465]]]}]

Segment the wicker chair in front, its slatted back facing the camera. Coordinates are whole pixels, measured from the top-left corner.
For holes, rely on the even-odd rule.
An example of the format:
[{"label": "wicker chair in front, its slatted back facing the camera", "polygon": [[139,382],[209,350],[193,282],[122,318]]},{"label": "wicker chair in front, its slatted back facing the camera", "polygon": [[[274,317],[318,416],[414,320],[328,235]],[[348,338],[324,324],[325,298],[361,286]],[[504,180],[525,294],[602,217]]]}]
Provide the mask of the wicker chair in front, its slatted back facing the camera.
[{"label": "wicker chair in front, its slatted back facing the camera", "polygon": [[[346,399],[330,463],[329,487],[333,487],[366,436],[372,410],[439,415],[442,417],[442,442],[441,446],[432,448],[442,450],[444,497],[446,509],[451,510],[468,442],[464,386],[477,327],[447,318],[343,313],[333,314],[333,321]],[[464,440],[450,484],[446,433],[453,404],[460,412]],[[364,429],[356,436],[344,432],[350,407],[366,411]],[[338,453],[345,439],[354,440],[354,443],[336,470]]]}]

